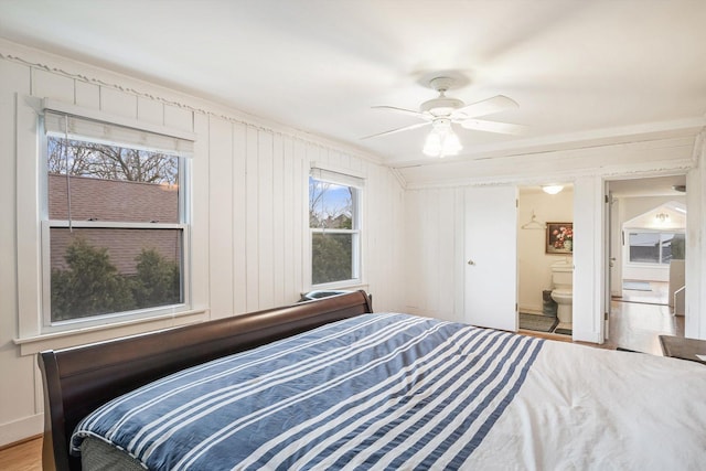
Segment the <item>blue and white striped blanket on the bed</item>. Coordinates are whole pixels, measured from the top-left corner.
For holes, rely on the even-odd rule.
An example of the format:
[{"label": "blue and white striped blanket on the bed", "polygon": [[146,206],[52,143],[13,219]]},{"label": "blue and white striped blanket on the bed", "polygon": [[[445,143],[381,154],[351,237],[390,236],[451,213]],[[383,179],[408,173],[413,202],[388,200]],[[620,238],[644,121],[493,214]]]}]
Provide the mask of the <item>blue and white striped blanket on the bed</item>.
[{"label": "blue and white striped blanket on the bed", "polygon": [[365,314],[143,386],[72,438],[153,470],[461,468],[543,341]]}]

